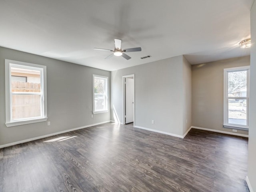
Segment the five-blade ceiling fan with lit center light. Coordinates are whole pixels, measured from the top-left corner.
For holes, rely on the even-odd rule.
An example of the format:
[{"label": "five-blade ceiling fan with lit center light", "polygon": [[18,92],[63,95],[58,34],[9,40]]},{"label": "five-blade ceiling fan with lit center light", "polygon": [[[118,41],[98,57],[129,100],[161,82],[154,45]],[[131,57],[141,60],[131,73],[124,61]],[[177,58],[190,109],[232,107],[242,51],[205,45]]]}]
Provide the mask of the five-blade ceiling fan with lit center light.
[{"label": "five-blade ceiling fan with lit center light", "polygon": [[110,50],[110,49],[101,49],[101,48],[94,48],[94,50],[101,50],[101,51],[112,51],[114,53],[112,53],[111,55],[107,56],[105,59],[112,57],[113,55],[115,56],[122,56],[123,58],[126,58],[127,60],[129,60],[131,57],[126,55],[124,52],[136,52],[136,51],[141,51],[141,47],[136,47],[136,48],[129,48],[129,49],[121,49],[121,44],[122,44],[122,40],[120,39],[114,39],[114,43],[115,43],[115,49]]}]

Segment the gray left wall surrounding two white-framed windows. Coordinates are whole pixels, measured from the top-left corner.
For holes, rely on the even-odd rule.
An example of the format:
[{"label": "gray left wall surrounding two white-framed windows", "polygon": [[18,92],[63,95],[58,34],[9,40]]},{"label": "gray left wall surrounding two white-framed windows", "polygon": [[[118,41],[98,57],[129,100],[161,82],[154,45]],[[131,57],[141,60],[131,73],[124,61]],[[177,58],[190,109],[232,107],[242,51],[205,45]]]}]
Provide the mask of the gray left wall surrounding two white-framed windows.
[{"label": "gray left wall surrounding two white-framed windows", "polygon": [[[4,59],[47,66],[50,126],[47,126],[47,122],[40,122],[6,127]],[[110,81],[108,71],[0,47],[0,145],[109,121],[110,112],[94,114],[94,118],[91,118],[92,74],[108,76]]]}]

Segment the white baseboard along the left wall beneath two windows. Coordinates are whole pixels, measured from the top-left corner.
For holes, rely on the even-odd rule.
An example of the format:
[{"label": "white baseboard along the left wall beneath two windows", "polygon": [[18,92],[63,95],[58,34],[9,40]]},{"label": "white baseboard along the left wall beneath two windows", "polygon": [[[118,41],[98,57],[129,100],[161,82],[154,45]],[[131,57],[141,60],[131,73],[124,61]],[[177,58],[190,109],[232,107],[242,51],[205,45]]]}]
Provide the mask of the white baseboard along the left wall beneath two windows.
[{"label": "white baseboard along the left wall beneath two windows", "polygon": [[30,142],[30,141],[34,141],[34,140],[38,140],[38,139],[42,139],[42,138],[46,138],[46,137],[50,137],[50,136],[70,132],[70,131],[75,131],[75,130],[78,130],[78,129],[83,129],[83,128],[87,128],[87,127],[91,127],[91,126],[95,126],[95,125],[100,125],[100,124],[104,124],[104,123],[108,123],[108,122],[110,122],[110,121],[100,122],[100,123],[96,123],[96,124],[92,124],[92,125],[86,125],[86,126],[82,126],[82,127],[78,127],[78,128],[64,130],[64,131],[60,131],[60,132],[56,132],[56,133],[51,133],[51,134],[48,134],[48,135],[43,135],[43,136],[39,136],[39,137],[34,137],[34,138],[22,140],[22,141],[8,143],[8,144],[0,145],[0,148],[5,148],[5,147],[21,144],[21,143],[26,143],[26,142]]}]

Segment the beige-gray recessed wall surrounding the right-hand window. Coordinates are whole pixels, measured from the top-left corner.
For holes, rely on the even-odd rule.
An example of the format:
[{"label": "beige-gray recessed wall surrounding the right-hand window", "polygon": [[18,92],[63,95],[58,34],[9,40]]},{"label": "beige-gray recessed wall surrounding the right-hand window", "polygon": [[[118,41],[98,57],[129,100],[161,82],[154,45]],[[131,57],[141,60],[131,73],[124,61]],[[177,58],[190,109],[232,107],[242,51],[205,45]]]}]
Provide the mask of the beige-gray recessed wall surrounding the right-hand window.
[{"label": "beige-gray recessed wall surrounding the right-hand window", "polygon": [[[223,128],[223,69],[250,65],[250,56],[192,65],[192,125],[232,132]],[[237,130],[248,134],[248,131]]]}]

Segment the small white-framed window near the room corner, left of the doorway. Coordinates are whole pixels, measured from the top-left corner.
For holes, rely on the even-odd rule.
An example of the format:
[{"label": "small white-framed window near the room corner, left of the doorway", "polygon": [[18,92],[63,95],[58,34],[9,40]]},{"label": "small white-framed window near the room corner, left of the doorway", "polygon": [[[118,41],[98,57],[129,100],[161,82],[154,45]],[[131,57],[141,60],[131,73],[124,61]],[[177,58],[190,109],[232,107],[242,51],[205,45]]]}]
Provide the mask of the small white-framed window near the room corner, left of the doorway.
[{"label": "small white-framed window near the room corner, left of the doorway", "polygon": [[93,75],[93,113],[108,112],[108,77]]}]

